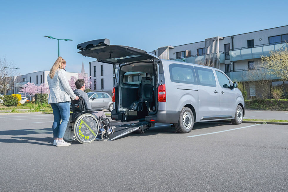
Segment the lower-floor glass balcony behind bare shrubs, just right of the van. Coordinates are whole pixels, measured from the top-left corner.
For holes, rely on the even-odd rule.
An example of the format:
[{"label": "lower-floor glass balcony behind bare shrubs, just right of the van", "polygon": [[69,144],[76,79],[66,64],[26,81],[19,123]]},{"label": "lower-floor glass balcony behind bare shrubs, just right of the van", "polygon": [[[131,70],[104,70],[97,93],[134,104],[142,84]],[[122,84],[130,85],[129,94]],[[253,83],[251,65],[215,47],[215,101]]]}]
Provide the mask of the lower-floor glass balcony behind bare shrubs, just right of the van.
[{"label": "lower-floor glass balcony behind bare shrubs, just right of the van", "polygon": [[226,74],[233,82],[279,79],[277,76],[269,74],[269,71],[263,68],[257,68],[253,70],[240,69],[236,71],[226,72]]}]

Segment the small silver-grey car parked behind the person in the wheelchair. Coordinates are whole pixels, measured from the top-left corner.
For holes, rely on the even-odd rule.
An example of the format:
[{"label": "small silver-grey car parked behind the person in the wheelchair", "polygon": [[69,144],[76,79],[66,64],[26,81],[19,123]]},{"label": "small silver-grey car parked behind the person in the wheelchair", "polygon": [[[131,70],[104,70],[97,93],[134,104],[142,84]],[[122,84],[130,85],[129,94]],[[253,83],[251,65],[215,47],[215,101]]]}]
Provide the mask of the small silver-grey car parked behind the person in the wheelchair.
[{"label": "small silver-grey car parked behind the person in the wheelchair", "polygon": [[113,110],[113,102],[111,96],[106,92],[89,92],[87,93],[91,107],[93,109]]}]

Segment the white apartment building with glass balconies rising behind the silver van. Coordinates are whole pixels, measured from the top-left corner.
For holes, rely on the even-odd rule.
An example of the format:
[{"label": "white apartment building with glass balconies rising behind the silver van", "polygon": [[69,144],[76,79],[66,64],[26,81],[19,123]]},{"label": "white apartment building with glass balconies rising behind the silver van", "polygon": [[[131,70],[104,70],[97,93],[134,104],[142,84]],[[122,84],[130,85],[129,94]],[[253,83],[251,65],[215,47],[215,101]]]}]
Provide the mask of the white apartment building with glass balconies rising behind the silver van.
[{"label": "white apartment building with glass balconies rising behind the silver van", "polygon": [[[268,56],[269,51],[279,50],[287,46],[288,25],[237,34],[227,37],[212,37],[204,41],[160,47],[150,53],[160,59],[182,61],[194,64],[205,64],[224,71],[231,80],[244,82],[248,98],[256,96],[261,87],[255,82],[252,73],[260,73],[257,64],[261,56]],[[255,71],[255,70],[258,70]],[[288,88],[287,81],[279,81],[275,76],[267,76],[271,86],[284,85]]]}]

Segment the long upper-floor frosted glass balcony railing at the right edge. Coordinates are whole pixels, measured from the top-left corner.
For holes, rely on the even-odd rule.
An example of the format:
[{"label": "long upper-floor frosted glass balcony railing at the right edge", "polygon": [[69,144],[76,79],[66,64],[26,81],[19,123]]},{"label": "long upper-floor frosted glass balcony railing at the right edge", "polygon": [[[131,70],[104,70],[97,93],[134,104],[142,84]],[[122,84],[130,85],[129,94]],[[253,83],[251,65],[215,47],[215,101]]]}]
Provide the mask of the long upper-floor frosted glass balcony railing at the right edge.
[{"label": "long upper-floor frosted glass balcony railing at the right edge", "polygon": [[286,43],[282,44],[275,44],[275,45],[269,45],[269,44],[263,44],[263,45],[257,45],[253,48],[237,48],[232,51],[230,51],[230,61],[240,61],[245,59],[257,59],[261,58],[261,56],[269,56],[269,51],[275,51],[279,50],[281,48],[286,47]]}]

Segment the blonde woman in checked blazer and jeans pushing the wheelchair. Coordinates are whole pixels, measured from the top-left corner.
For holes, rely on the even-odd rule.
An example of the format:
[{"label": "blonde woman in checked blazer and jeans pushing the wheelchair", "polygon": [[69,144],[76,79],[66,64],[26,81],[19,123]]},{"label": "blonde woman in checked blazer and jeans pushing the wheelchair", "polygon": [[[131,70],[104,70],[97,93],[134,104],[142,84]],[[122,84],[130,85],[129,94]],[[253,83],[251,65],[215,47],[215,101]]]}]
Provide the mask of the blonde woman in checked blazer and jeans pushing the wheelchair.
[{"label": "blonde woman in checked blazer and jeans pushing the wheelchair", "polygon": [[[70,97],[73,100],[79,99],[78,96],[73,93],[69,85],[65,67],[66,61],[62,59],[62,57],[58,57],[47,77],[50,89],[48,103],[52,106],[54,115],[54,122],[52,125],[54,138],[53,145],[56,145],[57,147],[71,145],[71,143],[67,143],[63,140],[63,135],[70,117]],[[62,122],[60,123],[61,119]]]}]

